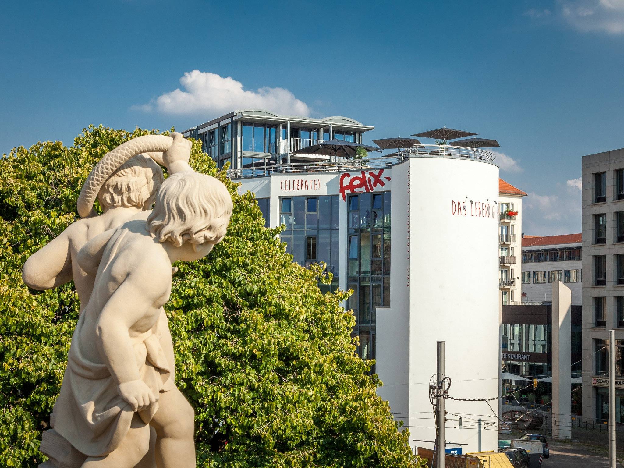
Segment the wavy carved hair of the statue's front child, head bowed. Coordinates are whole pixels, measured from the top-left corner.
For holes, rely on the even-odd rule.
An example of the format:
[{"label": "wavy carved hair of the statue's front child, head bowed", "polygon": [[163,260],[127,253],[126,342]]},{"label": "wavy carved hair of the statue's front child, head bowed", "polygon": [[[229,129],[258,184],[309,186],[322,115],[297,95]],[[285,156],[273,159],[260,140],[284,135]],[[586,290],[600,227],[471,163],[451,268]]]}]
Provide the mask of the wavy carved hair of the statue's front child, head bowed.
[{"label": "wavy carved hair of the statue's front child, head bowed", "polygon": [[170,175],[156,194],[147,228],[158,241],[216,244],[225,236],[232,215],[225,184],[210,175],[185,171]]}]

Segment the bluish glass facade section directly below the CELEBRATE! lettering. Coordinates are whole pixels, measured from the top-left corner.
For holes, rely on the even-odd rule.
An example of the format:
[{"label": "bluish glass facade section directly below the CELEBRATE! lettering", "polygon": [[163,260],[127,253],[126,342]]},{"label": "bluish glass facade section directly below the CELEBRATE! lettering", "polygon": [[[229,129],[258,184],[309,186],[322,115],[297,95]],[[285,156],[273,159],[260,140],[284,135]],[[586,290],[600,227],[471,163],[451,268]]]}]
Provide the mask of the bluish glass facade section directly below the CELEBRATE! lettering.
[{"label": "bluish glass facade section directly below the CELEBRATE! lettering", "polygon": [[[338,287],[339,195],[280,198],[280,233],[286,251],[303,266],[324,261],[334,275],[331,288]],[[321,289],[326,287],[320,285]]]}]

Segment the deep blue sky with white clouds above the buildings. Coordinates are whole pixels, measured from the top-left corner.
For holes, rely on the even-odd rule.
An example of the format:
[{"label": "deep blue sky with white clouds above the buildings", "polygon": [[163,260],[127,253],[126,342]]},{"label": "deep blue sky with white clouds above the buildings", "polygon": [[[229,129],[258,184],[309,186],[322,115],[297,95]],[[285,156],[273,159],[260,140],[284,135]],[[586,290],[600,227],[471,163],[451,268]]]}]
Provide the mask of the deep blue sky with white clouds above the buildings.
[{"label": "deep blue sky with white clouds above the buildings", "polygon": [[243,107],[369,140],[446,125],[499,140],[524,232],[547,235],[580,232],[580,157],[624,147],[624,0],[173,4],[5,4],[0,153]]}]

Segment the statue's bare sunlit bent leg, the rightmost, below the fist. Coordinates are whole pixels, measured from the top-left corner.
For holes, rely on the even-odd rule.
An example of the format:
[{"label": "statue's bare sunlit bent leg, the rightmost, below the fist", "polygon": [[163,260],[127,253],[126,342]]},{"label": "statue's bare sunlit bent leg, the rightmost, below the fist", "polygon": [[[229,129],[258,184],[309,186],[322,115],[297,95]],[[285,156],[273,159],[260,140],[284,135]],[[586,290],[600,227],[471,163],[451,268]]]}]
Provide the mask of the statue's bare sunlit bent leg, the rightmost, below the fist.
[{"label": "statue's bare sunlit bent leg, the rightmost, below the fist", "polygon": [[194,422],[193,407],[177,388],[160,394],[158,411],[150,422],[157,434],[158,468],[195,468]]}]

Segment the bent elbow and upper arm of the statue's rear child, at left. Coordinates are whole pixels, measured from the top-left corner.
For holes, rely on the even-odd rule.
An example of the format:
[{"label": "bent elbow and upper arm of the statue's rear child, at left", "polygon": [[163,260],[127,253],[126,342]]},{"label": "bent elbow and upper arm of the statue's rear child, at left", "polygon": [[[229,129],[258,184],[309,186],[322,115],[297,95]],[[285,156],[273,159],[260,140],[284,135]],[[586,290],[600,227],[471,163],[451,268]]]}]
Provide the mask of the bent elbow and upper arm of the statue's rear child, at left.
[{"label": "bent elbow and upper arm of the statue's rear child, at left", "polygon": [[44,291],[64,285],[73,279],[70,225],[49,241],[41,250],[29,256],[22,268],[22,280],[34,290]]}]

